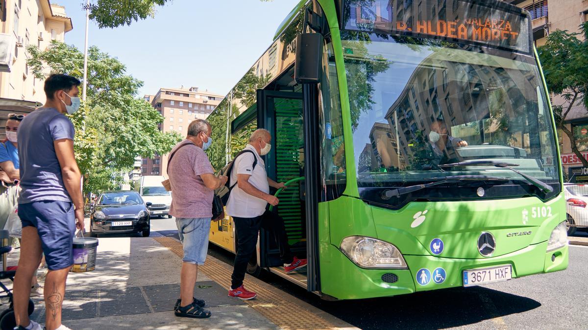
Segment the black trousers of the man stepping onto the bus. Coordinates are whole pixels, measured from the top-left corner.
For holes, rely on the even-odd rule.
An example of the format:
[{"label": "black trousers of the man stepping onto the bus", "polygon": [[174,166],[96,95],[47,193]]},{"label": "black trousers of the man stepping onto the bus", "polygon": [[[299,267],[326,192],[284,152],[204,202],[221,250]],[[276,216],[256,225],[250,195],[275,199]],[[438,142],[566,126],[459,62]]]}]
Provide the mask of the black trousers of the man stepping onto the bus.
[{"label": "black trousers of the man stepping onto the bus", "polygon": [[247,264],[253,254],[258,241],[259,228],[263,226],[269,230],[280,248],[280,258],[290,264],[293,261],[292,252],[288,245],[288,236],[284,220],[276,213],[266,211],[265,214],[255,218],[233,217],[235,231],[237,233],[237,254],[233,262],[233,274],[231,275],[231,287],[238,288],[243,284]]}]

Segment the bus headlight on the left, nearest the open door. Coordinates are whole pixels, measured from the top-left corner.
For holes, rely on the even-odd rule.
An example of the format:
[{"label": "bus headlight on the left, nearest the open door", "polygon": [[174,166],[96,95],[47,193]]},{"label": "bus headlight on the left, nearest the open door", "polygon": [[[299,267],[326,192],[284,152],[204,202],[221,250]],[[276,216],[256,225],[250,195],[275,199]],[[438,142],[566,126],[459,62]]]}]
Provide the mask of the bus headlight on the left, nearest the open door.
[{"label": "bus headlight on the left, nearest the open door", "polygon": [[341,251],[362,268],[407,268],[398,249],[385,241],[363,236],[343,238]]}]

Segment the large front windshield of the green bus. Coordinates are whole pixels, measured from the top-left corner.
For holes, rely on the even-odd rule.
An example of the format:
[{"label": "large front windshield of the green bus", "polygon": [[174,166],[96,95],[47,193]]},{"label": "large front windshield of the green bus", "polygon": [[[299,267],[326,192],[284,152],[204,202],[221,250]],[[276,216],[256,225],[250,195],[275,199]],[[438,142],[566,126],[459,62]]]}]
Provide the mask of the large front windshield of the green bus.
[{"label": "large front windshield of the green bus", "polygon": [[[459,175],[529,185],[499,167],[442,166],[486,159],[559,182],[552,117],[532,56],[369,32],[343,31],[342,39],[360,190]],[[505,187],[495,197],[521,191]]]}]

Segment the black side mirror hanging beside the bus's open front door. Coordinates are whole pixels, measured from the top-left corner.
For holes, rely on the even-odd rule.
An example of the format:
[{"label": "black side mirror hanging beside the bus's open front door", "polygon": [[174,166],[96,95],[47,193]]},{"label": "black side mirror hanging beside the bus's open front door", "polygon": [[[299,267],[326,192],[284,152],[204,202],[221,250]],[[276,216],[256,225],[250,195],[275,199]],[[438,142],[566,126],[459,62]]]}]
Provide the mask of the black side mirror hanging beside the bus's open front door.
[{"label": "black side mirror hanging beside the bus's open front door", "polygon": [[297,83],[318,83],[322,75],[324,38],[320,33],[296,36],[294,79]]}]

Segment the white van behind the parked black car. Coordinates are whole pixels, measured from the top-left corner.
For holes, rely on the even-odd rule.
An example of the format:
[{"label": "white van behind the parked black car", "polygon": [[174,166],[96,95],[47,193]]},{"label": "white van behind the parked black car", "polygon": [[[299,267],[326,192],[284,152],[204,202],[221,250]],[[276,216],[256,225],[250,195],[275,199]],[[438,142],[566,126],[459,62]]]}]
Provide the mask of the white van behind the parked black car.
[{"label": "white van behind the parked black car", "polygon": [[166,191],[161,182],[165,180],[163,176],[143,176],[141,177],[141,184],[139,184],[139,194],[147,202],[152,205],[148,207],[151,217],[165,217],[171,218],[169,215],[169,207],[172,205],[172,192]]}]

